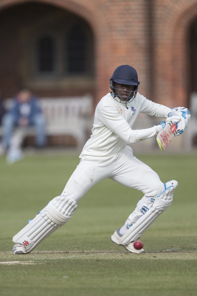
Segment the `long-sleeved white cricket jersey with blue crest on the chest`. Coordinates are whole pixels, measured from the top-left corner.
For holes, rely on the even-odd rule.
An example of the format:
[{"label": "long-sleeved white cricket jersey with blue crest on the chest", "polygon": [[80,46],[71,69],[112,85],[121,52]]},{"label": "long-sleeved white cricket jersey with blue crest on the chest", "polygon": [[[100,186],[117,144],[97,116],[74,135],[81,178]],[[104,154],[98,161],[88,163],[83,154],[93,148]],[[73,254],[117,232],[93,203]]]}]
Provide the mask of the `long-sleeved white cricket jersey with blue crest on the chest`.
[{"label": "long-sleeved white cricket jersey with blue crest on the chest", "polygon": [[[128,109],[126,108],[128,107]],[[171,109],[154,103],[137,93],[132,102],[125,104],[108,93],[95,110],[92,135],[83,147],[80,158],[85,156],[111,156],[118,154],[127,144],[156,136],[156,128],[132,130],[139,113],[167,118]]]}]

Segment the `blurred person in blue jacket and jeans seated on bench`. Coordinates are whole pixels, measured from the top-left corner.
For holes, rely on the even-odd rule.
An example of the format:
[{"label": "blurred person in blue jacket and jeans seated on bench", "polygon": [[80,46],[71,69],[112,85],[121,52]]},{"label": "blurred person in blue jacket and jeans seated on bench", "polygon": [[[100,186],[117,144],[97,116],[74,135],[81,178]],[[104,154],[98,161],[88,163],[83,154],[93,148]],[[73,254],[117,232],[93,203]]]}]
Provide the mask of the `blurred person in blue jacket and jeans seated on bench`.
[{"label": "blurred person in blue jacket and jeans seated on bench", "polygon": [[[10,160],[22,158],[21,144],[26,135],[27,127],[35,127],[35,144],[43,147],[46,142],[45,118],[38,104],[38,97],[29,89],[21,89],[13,100],[9,112],[2,118],[3,136],[1,146],[8,152]],[[16,133],[12,135],[14,127]],[[14,155],[12,155],[14,153]],[[13,157],[12,157],[13,156]]]}]

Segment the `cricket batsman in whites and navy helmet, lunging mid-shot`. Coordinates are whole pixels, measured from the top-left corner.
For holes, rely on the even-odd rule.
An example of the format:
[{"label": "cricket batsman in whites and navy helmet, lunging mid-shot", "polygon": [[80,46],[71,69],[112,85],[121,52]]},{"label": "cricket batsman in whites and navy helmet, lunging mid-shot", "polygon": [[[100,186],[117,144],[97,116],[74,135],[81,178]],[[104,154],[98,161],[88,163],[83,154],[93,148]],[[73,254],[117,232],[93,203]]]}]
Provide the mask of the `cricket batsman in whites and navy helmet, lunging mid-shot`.
[{"label": "cricket batsman in whites and navy helmet, lunging mid-shot", "polygon": [[[78,201],[97,182],[110,178],[142,192],[142,198],[126,222],[110,239],[131,253],[143,253],[133,246],[146,229],[171,204],[177,181],[163,183],[158,174],[133,155],[132,143],[157,136],[172,120],[177,136],[190,120],[185,107],[169,108],[139,94],[138,75],[129,65],[117,67],[109,78],[110,92],[95,110],[92,135],[79,156],[80,162],[60,196],[53,198],[35,218],[13,237],[13,254],[30,253],[40,242],[69,221]],[[139,113],[165,118],[151,128],[133,130]],[[121,196],[120,196],[121,198]]]}]

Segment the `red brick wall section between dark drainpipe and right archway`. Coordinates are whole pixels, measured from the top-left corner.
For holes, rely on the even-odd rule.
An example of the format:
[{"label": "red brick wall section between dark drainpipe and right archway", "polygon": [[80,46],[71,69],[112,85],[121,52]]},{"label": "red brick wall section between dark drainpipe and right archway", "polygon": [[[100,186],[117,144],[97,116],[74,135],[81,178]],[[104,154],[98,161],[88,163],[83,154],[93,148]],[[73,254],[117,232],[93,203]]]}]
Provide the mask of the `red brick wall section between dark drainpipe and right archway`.
[{"label": "red brick wall section between dark drainpipe and right archway", "polygon": [[[157,1],[158,2],[158,1]],[[159,4],[158,4],[159,6]],[[156,13],[155,100],[168,106],[188,106],[188,33],[197,17],[195,0],[169,1]]]}]

